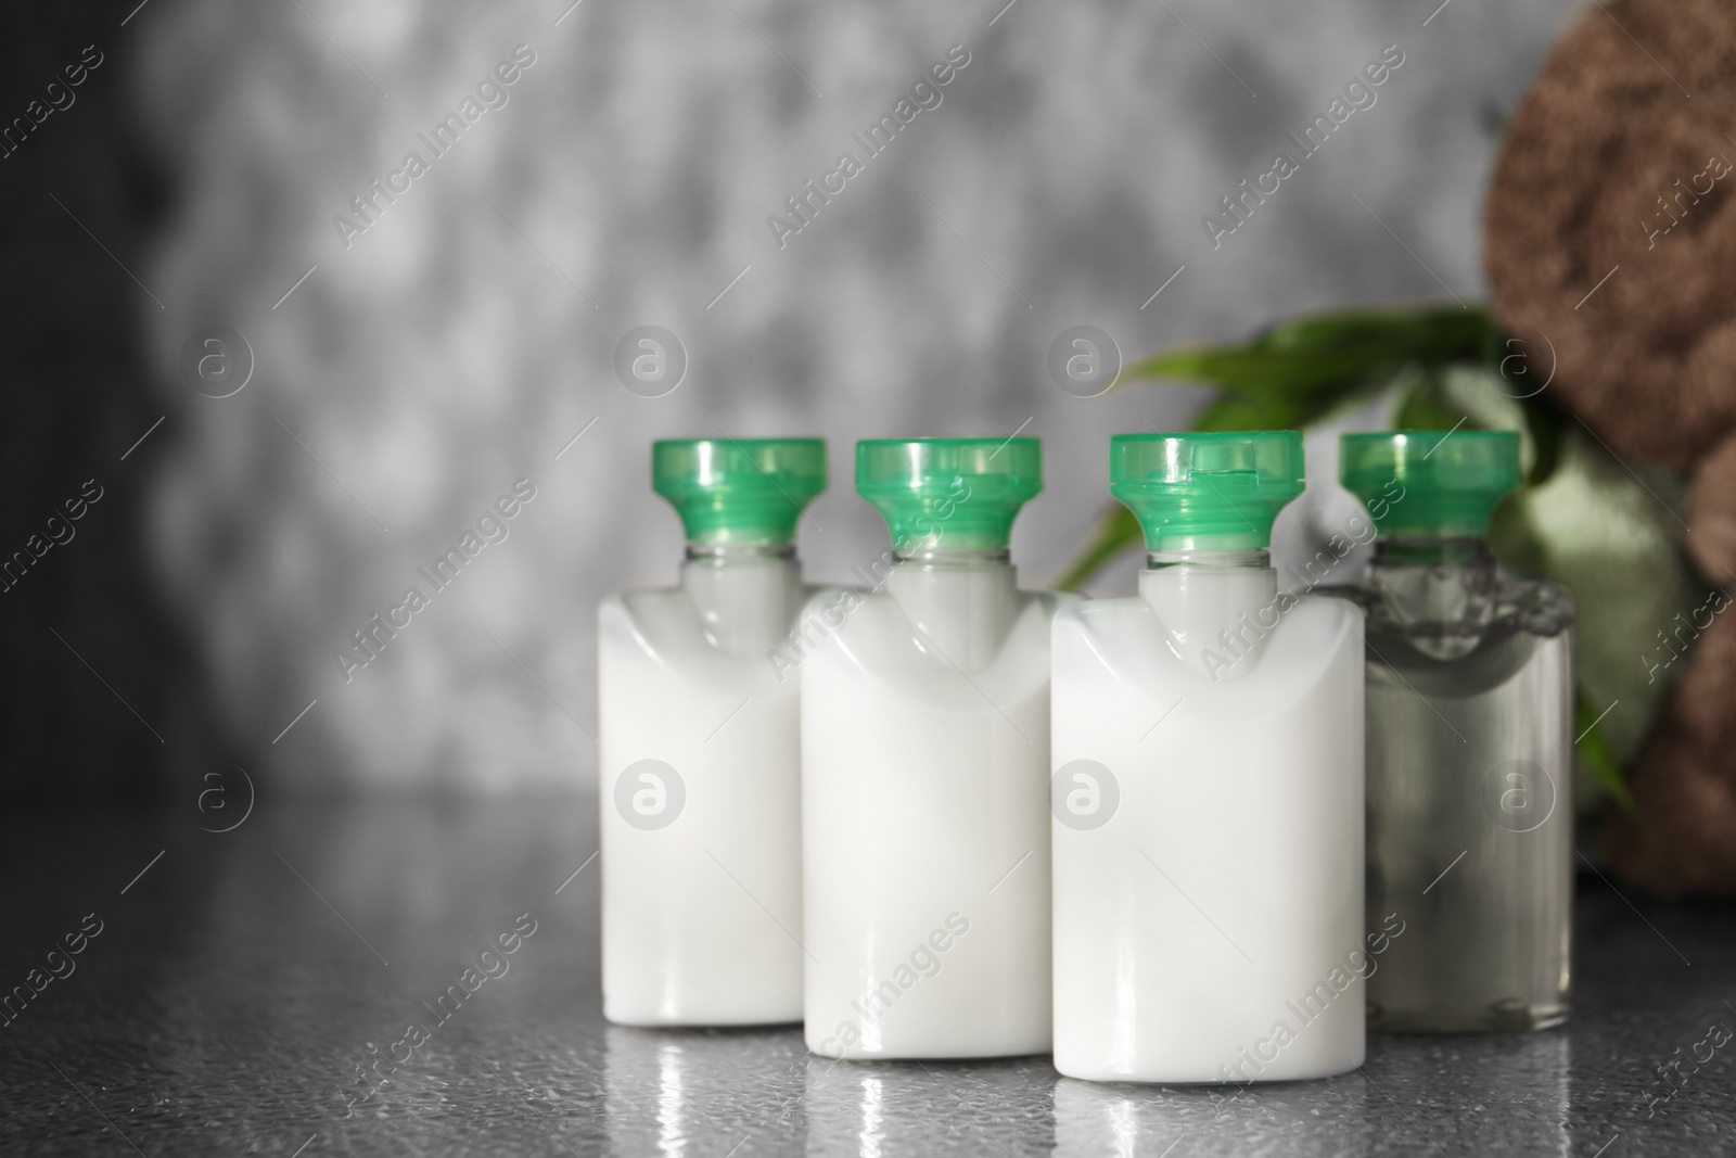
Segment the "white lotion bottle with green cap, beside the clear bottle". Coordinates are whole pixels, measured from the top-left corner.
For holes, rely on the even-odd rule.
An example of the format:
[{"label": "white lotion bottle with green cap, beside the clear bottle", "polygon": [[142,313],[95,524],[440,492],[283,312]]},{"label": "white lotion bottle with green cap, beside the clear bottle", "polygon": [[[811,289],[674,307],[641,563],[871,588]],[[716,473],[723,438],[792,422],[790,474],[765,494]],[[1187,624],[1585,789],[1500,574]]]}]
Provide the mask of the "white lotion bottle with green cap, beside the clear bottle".
[{"label": "white lotion bottle with green cap, beside the clear bottle", "polygon": [[1139,594],[1054,623],[1055,1068],[1276,1082],[1363,1061],[1363,641],[1278,589],[1302,436],[1121,434]]}]

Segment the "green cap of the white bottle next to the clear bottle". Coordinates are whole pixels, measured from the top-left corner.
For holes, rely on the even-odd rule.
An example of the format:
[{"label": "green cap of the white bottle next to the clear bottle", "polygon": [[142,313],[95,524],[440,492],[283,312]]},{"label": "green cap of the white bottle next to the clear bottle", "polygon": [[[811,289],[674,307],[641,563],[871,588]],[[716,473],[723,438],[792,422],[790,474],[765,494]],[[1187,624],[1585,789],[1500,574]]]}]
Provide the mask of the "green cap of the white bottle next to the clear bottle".
[{"label": "green cap of the white bottle next to the clear bottle", "polygon": [[1297,431],[1116,434],[1109,493],[1146,531],[1147,550],[1260,550],[1302,493]]}]

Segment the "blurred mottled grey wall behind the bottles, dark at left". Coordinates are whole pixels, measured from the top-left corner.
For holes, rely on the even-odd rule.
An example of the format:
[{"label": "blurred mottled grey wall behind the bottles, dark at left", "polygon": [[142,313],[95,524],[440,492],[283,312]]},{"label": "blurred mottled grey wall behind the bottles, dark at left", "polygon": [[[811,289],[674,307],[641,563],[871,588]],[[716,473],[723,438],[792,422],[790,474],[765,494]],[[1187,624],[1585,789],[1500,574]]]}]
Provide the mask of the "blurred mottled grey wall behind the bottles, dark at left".
[{"label": "blurred mottled grey wall behind the bottles, dark at left", "polygon": [[[30,123],[0,163],[0,550],[87,479],[104,497],[0,604],[7,795],[101,807],[196,792],[210,762],[274,792],[590,785],[595,604],[682,549],[654,438],[826,436],[800,540],[825,582],[885,542],[854,439],[1040,436],[1014,556],[1047,583],[1106,502],[1108,436],[1205,398],[1071,396],[1057,335],[1097,326],[1132,361],[1299,311],[1476,300],[1500,125],[1575,7],[569,3],[9,17],[0,115]],[[1201,219],[1387,45],[1373,104],[1213,245]],[[68,90],[87,47],[102,63]],[[852,134],[903,97],[930,108],[870,156]],[[861,172],[779,245],[767,219],[793,224],[786,198],[844,153]],[[654,398],[616,373],[642,325],[686,358]],[[1279,554],[1342,509],[1325,455],[1312,472]],[[417,568],[519,479],[509,535],[434,592]],[[411,585],[429,606],[345,672]]]}]

